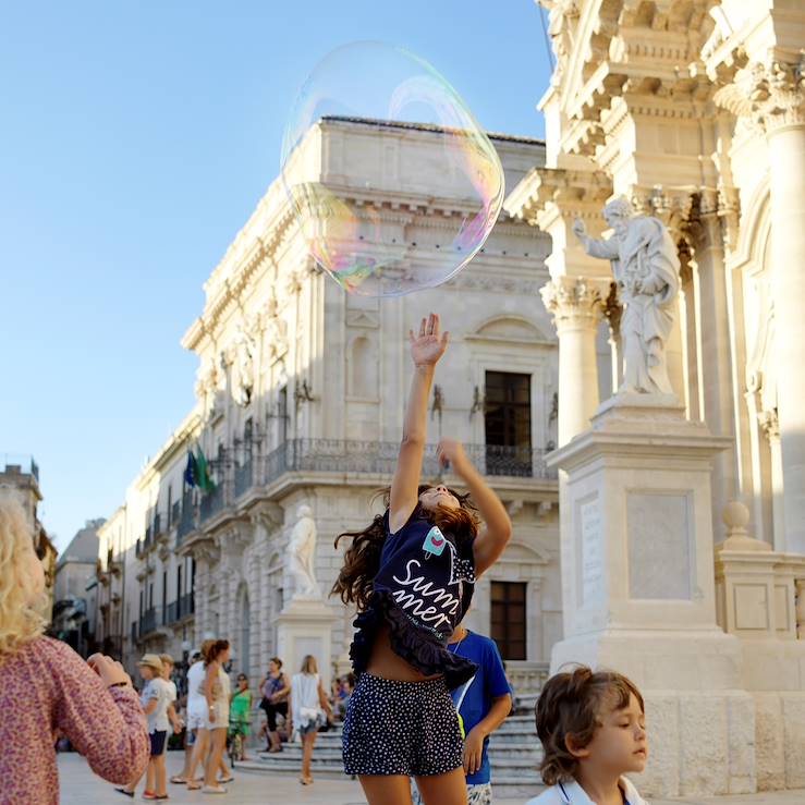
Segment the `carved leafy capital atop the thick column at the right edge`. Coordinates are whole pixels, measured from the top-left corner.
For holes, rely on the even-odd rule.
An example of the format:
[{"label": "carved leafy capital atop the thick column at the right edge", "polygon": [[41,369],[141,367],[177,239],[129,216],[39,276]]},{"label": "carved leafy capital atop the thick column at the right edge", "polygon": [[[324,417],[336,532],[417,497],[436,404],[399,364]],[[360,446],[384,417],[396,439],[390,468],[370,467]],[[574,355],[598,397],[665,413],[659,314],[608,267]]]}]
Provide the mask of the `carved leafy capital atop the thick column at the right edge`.
[{"label": "carved leafy capital atop the thick column at the right edge", "polygon": [[767,134],[805,125],[805,51],[797,62],[752,62],[715,95],[718,106],[747,118]]}]

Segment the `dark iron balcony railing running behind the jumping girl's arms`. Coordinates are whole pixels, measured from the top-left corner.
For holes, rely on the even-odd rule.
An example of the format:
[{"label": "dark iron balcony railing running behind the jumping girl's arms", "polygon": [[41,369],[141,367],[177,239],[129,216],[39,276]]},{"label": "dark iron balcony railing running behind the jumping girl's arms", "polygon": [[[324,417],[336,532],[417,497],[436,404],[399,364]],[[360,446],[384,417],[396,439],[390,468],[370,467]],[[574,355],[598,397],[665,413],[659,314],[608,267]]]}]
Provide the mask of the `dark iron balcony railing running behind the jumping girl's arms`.
[{"label": "dark iron balcony railing running behind the jumping girl's arms", "polygon": [[[556,471],[545,464],[546,450],[465,444],[464,450],[486,476],[554,479]],[[289,472],[338,472],[391,475],[397,466],[399,442],[340,439],[292,439],[266,456],[265,483]],[[436,444],[428,444],[423,461],[423,477],[439,475]]]}]

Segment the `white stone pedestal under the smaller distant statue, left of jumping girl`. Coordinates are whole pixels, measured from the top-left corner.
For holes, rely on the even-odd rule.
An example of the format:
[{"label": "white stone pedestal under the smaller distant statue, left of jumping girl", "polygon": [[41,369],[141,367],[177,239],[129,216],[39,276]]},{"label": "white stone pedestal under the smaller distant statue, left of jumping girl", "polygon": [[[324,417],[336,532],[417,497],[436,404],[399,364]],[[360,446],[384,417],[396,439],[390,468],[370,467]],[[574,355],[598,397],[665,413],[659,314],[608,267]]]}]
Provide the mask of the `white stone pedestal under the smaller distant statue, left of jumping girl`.
[{"label": "white stone pedestal under the smaller distant statue, left of jumping girl", "polygon": [[277,617],[277,656],[290,676],[302,669],[305,655],[318,662],[325,691],[330,690],[332,626],[338,615],[320,598],[292,598]]}]

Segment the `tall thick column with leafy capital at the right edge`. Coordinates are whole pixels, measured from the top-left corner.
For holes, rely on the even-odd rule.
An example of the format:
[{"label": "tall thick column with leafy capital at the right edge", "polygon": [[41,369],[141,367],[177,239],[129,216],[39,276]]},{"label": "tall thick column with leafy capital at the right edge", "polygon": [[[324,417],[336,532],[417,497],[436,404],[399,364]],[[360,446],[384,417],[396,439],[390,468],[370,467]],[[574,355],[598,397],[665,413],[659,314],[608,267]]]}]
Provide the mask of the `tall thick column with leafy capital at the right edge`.
[{"label": "tall thick column with leafy capital at the right edge", "polygon": [[805,553],[805,54],[769,58],[737,71],[716,101],[749,118],[769,145],[771,294],[774,304],[778,418],[785,493],[784,542]]}]

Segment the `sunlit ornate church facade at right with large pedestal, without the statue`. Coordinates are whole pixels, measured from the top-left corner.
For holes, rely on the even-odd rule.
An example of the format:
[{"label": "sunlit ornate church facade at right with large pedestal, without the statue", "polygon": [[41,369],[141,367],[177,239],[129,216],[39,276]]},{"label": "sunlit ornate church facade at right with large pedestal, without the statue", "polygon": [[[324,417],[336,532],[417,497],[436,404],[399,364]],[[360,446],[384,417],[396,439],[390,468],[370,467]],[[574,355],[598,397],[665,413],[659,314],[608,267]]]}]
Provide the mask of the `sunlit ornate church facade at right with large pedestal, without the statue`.
[{"label": "sunlit ornate church facade at right with large pedestal, without the statue", "polygon": [[[563,471],[565,578],[565,634],[554,664],[597,657],[643,686],[656,751],[641,790],[800,788],[805,764],[786,747],[805,742],[805,8],[539,2],[557,57],[539,101],[546,164],[510,192],[505,209],[552,242],[541,293],[559,337],[561,450],[550,463]],[[618,197],[668,228],[681,264],[666,356],[683,418],[672,427],[658,411],[639,450],[639,412],[621,417],[629,400],[608,400],[623,379],[619,290],[610,267],[574,236],[575,227],[598,237],[601,209]],[[632,403],[650,405],[645,397]],[[692,435],[690,443],[660,448],[674,427]],[[692,469],[673,474],[687,468],[697,428],[712,435],[712,477],[693,484]],[[608,451],[598,464],[590,458]],[[601,483],[618,478],[600,496],[609,509],[600,521],[584,497],[596,473]],[[710,522],[685,524],[682,509],[675,521],[667,515],[680,489],[700,496],[708,488],[708,500],[691,511],[707,512]],[[657,522],[641,530],[646,517],[630,505],[657,492]],[[609,599],[600,612],[584,612],[586,594],[580,599],[577,590],[594,580],[573,574],[585,546],[605,535]],[[676,564],[706,571],[695,595],[669,586],[685,581],[667,559],[685,537],[695,538],[699,556]],[[619,552],[624,539],[630,549]],[[660,568],[661,584],[635,587],[636,576],[650,580]],[[680,607],[683,618],[674,614]],[[655,627],[664,636],[656,648],[641,647]],[[703,638],[686,655],[684,645],[696,645],[703,630],[709,648]],[[717,658],[715,672],[708,655]],[[673,675],[663,676],[668,669]]]}]

